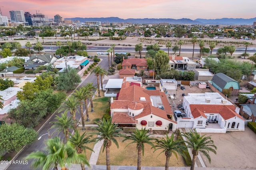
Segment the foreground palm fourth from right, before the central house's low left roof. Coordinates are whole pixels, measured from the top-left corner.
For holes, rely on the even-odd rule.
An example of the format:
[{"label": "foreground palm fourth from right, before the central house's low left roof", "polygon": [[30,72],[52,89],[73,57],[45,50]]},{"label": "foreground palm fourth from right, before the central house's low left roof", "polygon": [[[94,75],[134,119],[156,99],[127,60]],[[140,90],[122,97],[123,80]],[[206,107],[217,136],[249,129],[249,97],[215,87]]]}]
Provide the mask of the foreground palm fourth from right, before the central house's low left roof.
[{"label": "foreground palm fourth from right, before the central house's low left roof", "polygon": [[106,149],[106,166],[107,170],[110,170],[110,147],[112,145],[112,142],[116,145],[117,148],[119,148],[118,142],[116,141],[116,137],[120,137],[121,134],[119,133],[121,129],[116,129],[118,124],[112,123],[112,119],[106,120],[103,118],[103,120],[100,120],[100,123],[95,122],[99,127],[92,127],[98,132],[95,132],[93,134],[98,135],[96,138],[96,142],[104,140],[103,142],[103,151]]}]

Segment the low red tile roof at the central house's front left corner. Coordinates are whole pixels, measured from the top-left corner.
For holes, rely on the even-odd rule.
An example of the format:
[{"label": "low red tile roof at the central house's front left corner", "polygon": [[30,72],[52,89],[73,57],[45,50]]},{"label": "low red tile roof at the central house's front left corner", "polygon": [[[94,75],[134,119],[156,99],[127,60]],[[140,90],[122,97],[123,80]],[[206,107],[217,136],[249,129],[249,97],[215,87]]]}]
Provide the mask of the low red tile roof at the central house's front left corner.
[{"label": "low red tile roof at the central house's front left corner", "polygon": [[138,120],[135,120],[134,117],[128,115],[128,112],[114,112],[112,123],[118,124],[137,124]]}]

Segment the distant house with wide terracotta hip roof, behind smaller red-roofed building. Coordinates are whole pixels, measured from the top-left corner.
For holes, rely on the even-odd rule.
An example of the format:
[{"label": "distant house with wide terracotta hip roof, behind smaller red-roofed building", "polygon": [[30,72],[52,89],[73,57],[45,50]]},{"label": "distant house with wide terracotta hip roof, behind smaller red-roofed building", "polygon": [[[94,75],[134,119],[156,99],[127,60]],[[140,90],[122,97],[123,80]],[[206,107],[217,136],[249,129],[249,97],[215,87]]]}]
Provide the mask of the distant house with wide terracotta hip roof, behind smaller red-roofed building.
[{"label": "distant house with wide terracotta hip roof, behind smaller red-roofed building", "polygon": [[148,64],[146,59],[131,58],[125,59],[122,62],[122,69],[136,69],[136,70],[147,70]]}]

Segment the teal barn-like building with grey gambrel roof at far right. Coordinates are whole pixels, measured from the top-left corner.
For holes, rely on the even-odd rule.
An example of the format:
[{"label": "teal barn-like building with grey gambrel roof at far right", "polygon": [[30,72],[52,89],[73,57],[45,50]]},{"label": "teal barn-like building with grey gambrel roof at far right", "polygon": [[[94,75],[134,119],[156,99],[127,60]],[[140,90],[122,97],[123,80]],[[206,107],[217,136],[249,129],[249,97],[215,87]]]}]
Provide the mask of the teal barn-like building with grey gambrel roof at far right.
[{"label": "teal barn-like building with grey gambrel roof at far right", "polygon": [[218,89],[220,92],[226,92],[230,90],[231,96],[238,96],[240,85],[238,81],[233,78],[223,74],[221,72],[214,74],[212,77],[212,86]]}]

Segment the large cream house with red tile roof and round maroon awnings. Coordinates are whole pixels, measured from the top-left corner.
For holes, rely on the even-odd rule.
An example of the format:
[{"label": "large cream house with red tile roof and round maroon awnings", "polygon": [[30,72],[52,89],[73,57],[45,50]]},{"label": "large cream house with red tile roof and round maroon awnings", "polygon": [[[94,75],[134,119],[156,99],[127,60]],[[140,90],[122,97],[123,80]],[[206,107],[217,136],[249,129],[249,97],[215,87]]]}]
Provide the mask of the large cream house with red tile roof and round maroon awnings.
[{"label": "large cream house with red tile roof and round maroon awnings", "polygon": [[131,84],[123,82],[118,100],[111,100],[112,123],[120,127],[174,131],[177,123],[164,92]]}]

